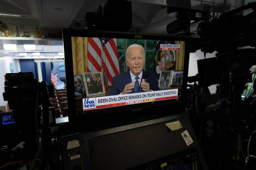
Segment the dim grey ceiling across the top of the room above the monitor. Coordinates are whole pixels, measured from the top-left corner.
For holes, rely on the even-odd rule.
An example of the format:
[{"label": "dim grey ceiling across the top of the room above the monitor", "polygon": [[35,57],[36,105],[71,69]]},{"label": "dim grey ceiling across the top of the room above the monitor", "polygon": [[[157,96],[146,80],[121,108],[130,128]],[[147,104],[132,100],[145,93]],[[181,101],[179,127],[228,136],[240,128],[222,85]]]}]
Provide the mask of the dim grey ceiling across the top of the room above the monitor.
[{"label": "dim grey ceiling across the top of the room above the monitor", "polygon": [[[107,0],[0,0],[0,13],[38,19],[41,28],[70,28],[72,22],[84,22],[86,12],[96,12]],[[130,0],[132,27],[140,32],[165,33],[169,17],[162,5],[223,13],[254,0]],[[214,6],[212,8],[212,6]],[[120,7],[122,8],[122,7]],[[0,17],[1,20],[1,17]],[[139,29],[138,29],[139,28]]]}]

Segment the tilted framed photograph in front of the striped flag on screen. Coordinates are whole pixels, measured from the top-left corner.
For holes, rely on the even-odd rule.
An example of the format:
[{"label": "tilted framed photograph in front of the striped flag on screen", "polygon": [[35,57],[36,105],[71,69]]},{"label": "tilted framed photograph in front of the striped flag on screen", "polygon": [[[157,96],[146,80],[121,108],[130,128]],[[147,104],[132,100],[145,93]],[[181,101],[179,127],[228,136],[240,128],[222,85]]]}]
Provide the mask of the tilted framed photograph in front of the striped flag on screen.
[{"label": "tilted framed photograph in front of the striped flag on screen", "polygon": [[86,96],[104,95],[102,72],[83,73]]}]

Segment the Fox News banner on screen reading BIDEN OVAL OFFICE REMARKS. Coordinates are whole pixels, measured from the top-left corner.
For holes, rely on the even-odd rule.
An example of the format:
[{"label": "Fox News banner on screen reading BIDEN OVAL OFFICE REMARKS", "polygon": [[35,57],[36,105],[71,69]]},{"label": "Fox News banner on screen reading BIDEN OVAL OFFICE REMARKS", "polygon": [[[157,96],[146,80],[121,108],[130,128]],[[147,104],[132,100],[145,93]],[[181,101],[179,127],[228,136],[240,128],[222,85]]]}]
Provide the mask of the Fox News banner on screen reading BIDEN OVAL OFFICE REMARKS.
[{"label": "Fox News banner on screen reading BIDEN OVAL OFFICE REMARKS", "polygon": [[169,89],[144,93],[87,98],[83,99],[83,111],[176,99],[177,97],[178,89]]}]

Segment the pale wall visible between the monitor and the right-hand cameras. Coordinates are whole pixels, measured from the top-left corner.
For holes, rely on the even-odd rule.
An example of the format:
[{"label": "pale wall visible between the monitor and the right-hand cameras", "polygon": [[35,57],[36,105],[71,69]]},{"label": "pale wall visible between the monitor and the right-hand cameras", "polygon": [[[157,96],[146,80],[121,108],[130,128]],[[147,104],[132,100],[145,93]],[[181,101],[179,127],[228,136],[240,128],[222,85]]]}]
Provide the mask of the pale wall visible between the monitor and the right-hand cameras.
[{"label": "pale wall visible between the monitor and the right-hand cameras", "polygon": [[[215,56],[216,51],[213,53],[206,53],[206,58],[212,58]],[[189,55],[189,66],[188,66],[188,76],[194,76],[198,73],[197,70],[197,60],[204,59],[204,53],[201,50],[197,50],[194,53],[190,53]],[[194,83],[188,83],[188,84],[194,84]],[[216,92],[216,85],[211,85],[209,87],[209,90],[211,93]]]}]

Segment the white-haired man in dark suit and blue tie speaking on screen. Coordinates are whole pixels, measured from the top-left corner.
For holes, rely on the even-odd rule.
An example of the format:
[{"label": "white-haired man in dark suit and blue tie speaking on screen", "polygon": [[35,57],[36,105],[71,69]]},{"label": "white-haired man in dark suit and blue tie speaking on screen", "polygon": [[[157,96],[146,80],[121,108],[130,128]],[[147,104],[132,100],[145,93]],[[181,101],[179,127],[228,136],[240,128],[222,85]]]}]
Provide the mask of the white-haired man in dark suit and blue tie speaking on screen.
[{"label": "white-haired man in dark suit and blue tie speaking on screen", "polygon": [[143,70],[145,63],[144,48],[138,44],[130,45],[126,50],[126,64],[130,68],[125,73],[113,77],[109,96],[129,93],[141,93],[160,90],[156,74]]}]

